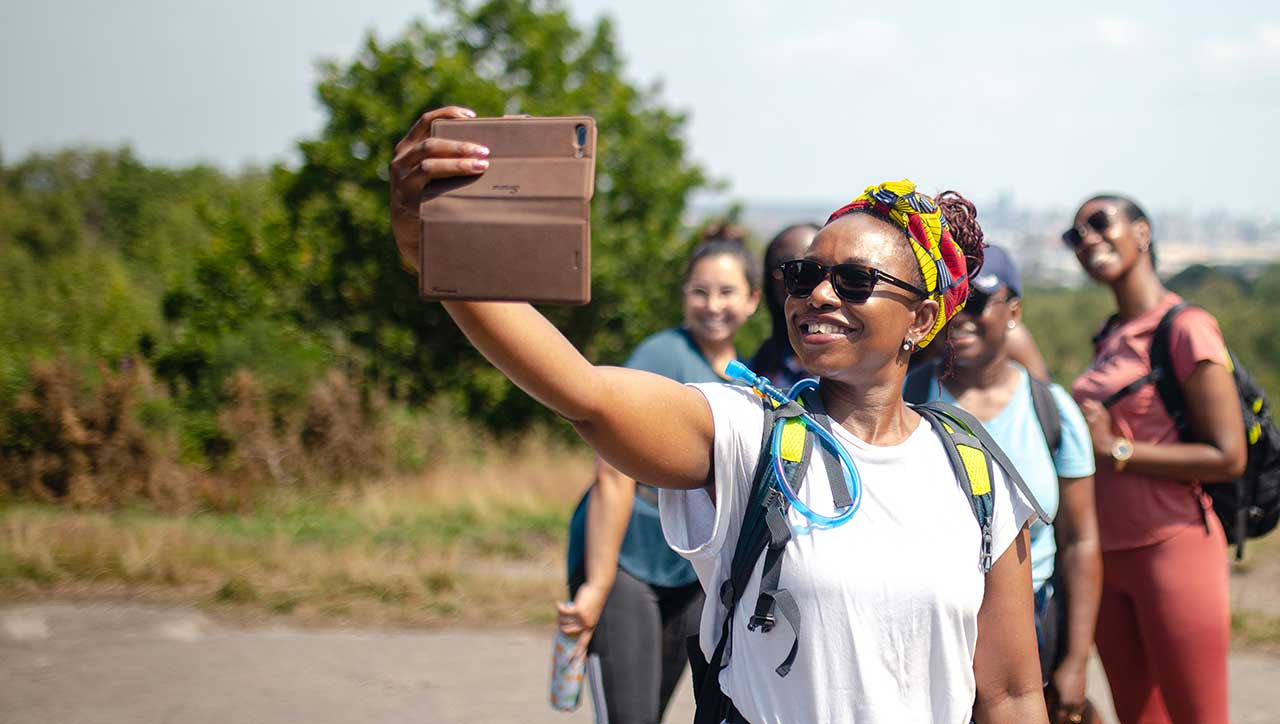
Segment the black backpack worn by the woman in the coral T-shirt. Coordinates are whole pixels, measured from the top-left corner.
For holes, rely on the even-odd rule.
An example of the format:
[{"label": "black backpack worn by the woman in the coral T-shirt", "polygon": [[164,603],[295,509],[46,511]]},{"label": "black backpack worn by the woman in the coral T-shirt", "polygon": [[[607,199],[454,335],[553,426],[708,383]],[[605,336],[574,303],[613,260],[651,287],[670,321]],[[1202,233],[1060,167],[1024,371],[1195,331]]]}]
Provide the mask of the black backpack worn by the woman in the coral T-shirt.
[{"label": "black backpack worn by the woman in the coral T-shirt", "polygon": [[[1105,407],[1111,407],[1121,398],[1137,391],[1143,385],[1156,385],[1160,402],[1169,416],[1174,418],[1178,436],[1184,441],[1194,441],[1190,422],[1187,418],[1187,399],[1181,385],[1174,374],[1172,357],[1169,349],[1169,333],[1179,312],[1190,307],[1185,302],[1174,304],[1156,325],[1151,338],[1151,372],[1125,385],[1107,399]],[[1094,343],[1116,324],[1116,317],[1107,320]],[[1244,475],[1233,481],[1204,484],[1204,491],[1213,499],[1213,512],[1222,521],[1228,542],[1235,544],[1235,559],[1244,558],[1245,539],[1256,539],[1271,532],[1280,521],[1280,431],[1271,421],[1271,403],[1257,381],[1240,366],[1230,349],[1226,350],[1231,376],[1240,395],[1240,412],[1244,416],[1244,440],[1248,443],[1248,463]]]}]

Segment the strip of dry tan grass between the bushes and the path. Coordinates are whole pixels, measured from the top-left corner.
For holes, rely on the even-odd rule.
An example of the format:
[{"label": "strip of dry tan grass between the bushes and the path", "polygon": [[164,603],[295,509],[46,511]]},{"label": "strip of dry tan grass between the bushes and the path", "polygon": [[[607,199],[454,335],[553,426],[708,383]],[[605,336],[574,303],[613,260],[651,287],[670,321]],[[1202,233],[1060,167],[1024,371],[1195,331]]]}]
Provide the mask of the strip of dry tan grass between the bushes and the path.
[{"label": "strip of dry tan grass between the bushes and the path", "polygon": [[545,622],[591,457],[531,439],[246,514],[10,505],[0,596],[142,596],[296,620]]}]

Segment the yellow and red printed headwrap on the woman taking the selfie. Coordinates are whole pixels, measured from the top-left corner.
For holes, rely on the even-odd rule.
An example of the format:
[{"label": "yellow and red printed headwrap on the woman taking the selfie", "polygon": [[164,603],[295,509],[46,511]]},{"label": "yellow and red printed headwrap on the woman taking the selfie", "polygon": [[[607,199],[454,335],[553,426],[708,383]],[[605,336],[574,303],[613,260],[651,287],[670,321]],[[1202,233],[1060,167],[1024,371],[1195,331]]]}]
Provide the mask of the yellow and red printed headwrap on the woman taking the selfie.
[{"label": "yellow and red printed headwrap on the woman taking the selfie", "polygon": [[892,221],[911,238],[911,251],[924,276],[924,290],[938,302],[940,308],[933,329],[916,342],[919,348],[928,347],[969,299],[964,251],[951,238],[942,210],[932,198],[915,191],[914,183],[902,179],[867,187],[861,196],[837,209],[827,224],[854,211],[868,211]]}]

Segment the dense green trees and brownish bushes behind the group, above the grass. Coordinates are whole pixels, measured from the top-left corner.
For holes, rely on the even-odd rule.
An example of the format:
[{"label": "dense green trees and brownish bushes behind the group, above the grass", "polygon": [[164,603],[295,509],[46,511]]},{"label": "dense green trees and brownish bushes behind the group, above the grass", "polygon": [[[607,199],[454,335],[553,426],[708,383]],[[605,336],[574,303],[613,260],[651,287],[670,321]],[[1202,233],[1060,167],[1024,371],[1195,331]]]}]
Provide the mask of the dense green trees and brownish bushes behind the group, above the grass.
[{"label": "dense green trees and brownish bushes behind the group, above the grass", "polygon": [[[445,1],[430,24],[325,64],[317,95],[328,120],[296,169],[151,168],[128,150],[0,164],[0,480],[93,503],[118,498],[111,476],[86,482],[105,468],[151,496],[200,476],[332,478],[428,464],[429,418],[499,434],[550,421],[417,298],[392,242],[392,148],[451,102],[596,118],[593,303],[547,310],[589,358],[621,362],[680,319],[681,219],[707,180],[685,118],[623,78],[607,19],[580,29],[550,0]],[[1280,391],[1280,269],[1194,269],[1175,288]],[[1027,295],[1060,381],[1088,363],[1110,307],[1098,288]]]}]

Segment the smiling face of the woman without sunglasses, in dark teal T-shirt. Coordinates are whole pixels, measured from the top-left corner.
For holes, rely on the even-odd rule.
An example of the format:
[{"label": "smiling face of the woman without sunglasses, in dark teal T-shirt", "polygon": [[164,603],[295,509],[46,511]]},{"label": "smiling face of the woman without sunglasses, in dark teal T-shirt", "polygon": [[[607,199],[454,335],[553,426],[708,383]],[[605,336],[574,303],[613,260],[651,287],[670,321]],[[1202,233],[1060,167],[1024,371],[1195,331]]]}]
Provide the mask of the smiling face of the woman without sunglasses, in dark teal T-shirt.
[{"label": "smiling face of the woman without sunglasses, in dark teal T-shirt", "polygon": [[685,327],[699,345],[732,343],[759,302],[760,292],[751,289],[736,256],[705,256],[685,281]]}]

